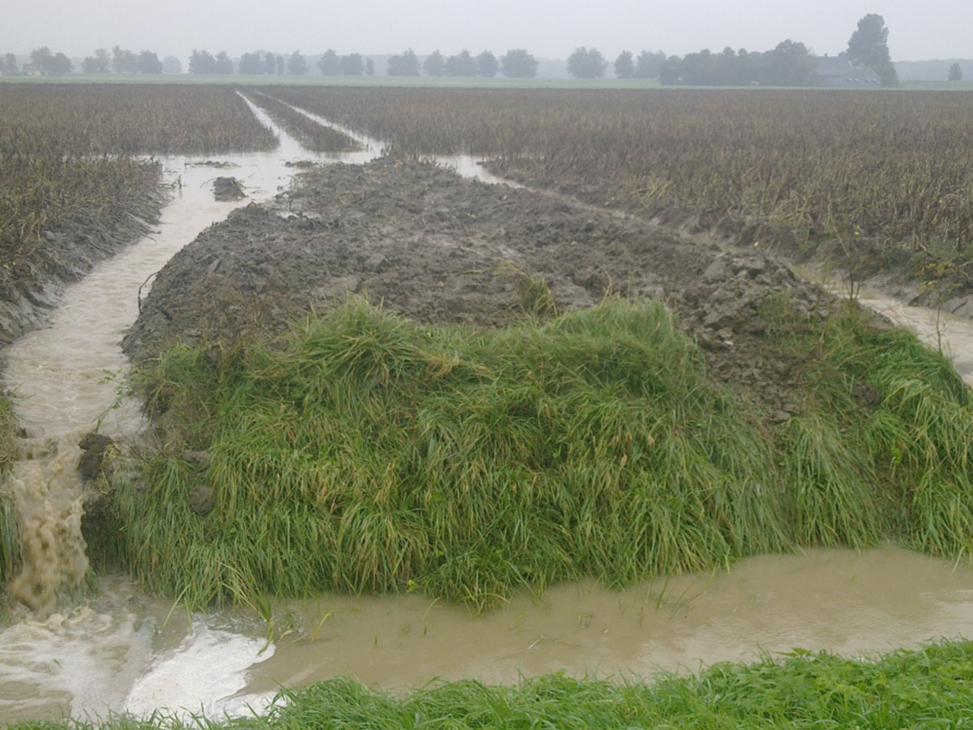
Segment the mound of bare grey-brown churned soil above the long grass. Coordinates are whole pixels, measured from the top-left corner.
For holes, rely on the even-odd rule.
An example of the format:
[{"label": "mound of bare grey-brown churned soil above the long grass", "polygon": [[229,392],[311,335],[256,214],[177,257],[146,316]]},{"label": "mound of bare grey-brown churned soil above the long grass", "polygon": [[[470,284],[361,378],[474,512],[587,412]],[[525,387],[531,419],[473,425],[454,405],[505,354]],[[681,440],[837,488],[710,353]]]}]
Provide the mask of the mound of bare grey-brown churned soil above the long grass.
[{"label": "mound of bare grey-brown churned soil above the long grass", "polygon": [[723,252],[608,208],[380,159],[303,173],[294,190],[202,232],[158,275],[123,347],[142,363],[177,342],[225,349],[349,293],[421,323],[499,327],[523,316],[528,279],[560,311],[605,297],[667,302],[710,373],[775,420],[796,411],[800,362],[774,347],[765,300],[783,295],[821,316],[835,301],[759,251]]}]

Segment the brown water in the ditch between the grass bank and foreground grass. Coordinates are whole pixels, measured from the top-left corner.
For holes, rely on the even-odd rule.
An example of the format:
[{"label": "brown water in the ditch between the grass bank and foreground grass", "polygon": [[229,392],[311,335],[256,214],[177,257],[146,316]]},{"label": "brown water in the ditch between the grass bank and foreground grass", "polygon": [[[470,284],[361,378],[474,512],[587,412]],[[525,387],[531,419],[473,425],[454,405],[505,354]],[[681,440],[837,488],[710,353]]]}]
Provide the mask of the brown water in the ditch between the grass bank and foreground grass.
[{"label": "brown water in the ditch between the grass bank and foreground grass", "polygon": [[274,605],[281,638],[270,644],[252,614],[193,616],[190,634],[184,613],[124,578],[102,586],[91,608],[0,634],[0,724],[162,707],[247,714],[281,685],[335,675],[387,688],[651,676],[793,647],[859,655],[973,635],[973,571],[892,546],[763,556],[623,592],[564,585],[482,616],[421,596],[323,596]]}]

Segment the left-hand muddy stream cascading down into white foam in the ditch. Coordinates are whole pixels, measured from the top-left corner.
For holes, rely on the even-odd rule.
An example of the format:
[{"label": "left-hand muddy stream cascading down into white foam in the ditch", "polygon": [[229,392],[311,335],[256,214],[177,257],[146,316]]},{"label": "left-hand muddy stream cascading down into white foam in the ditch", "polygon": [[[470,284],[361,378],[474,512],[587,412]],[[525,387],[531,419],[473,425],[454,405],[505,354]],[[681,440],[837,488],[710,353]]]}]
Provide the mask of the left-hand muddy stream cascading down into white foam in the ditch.
[{"label": "left-hand muddy stream cascading down into white foam in the ditch", "polygon": [[[288,163],[332,161],[306,152],[263,112],[251,108],[280,138],[278,149],[216,160],[162,159],[171,200],[162,209],[158,230],[68,286],[61,306],[51,314],[50,326],[25,334],[5,350],[3,384],[15,393],[20,422],[34,436],[24,440],[23,459],[2,487],[15,493],[22,518],[26,569],[12,588],[23,594],[28,606],[43,613],[55,609],[58,594],[77,588],[87,568],[80,529],[83,486],[76,474],[81,436],[97,428],[112,437],[132,438],[146,425],[138,404],[120,396],[128,368],[121,341],[138,315],[139,297],[148,293],[153,274],[235,207],[266,201],[287,190],[294,179]],[[247,197],[214,201],[212,181],[221,175],[233,175]],[[4,629],[0,632],[0,725],[64,712],[73,716],[121,712],[127,707],[129,690],[133,712],[148,707],[149,696],[162,697],[161,704],[173,709],[198,709],[201,702],[218,713],[245,712],[248,703],[256,707],[265,702],[262,697],[229,695],[233,687],[242,686],[237,673],[268,658],[272,647],[258,660],[253,649],[256,639],[200,626],[186,639],[185,647],[149,669],[151,632],[136,632],[137,623],[134,615],[118,608],[99,612],[79,607],[68,615],[55,613],[44,621],[28,618]],[[263,642],[257,650],[262,646]],[[193,669],[205,655],[215,658],[216,664],[207,665],[206,671],[219,681],[207,683],[201,671]],[[143,672],[149,674],[136,691],[133,682]],[[171,691],[163,691],[162,676],[181,674],[191,678],[173,680]],[[180,691],[185,696],[180,697]]]}]

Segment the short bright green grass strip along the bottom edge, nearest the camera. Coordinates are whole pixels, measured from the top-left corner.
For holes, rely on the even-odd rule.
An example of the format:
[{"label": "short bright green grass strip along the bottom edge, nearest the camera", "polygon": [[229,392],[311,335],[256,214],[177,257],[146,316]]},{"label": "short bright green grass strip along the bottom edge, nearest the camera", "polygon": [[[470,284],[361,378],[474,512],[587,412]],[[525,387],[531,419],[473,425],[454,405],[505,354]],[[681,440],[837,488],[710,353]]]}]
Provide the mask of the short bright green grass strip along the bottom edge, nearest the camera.
[{"label": "short bright green grass strip along the bottom edge, nearest the camera", "polygon": [[[654,681],[547,675],[518,686],[443,682],[408,694],[335,678],[282,691],[262,717],[70,721],[73,730],[136,728],[965,728],[973,726],[973,642],[943,641],[875,660],[796,651],[782,662],[717,664]],[[56,728],[24,723],[15,730]]]}]

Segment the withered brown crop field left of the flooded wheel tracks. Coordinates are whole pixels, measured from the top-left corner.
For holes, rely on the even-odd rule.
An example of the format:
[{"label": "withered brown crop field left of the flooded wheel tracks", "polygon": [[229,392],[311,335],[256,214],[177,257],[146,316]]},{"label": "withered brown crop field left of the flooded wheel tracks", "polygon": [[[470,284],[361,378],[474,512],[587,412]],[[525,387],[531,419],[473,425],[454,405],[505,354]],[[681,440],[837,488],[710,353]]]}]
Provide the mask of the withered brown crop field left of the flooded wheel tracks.
[{"label": "withered brown crop field left of the flooded wheel tracks", "polygon": [[0,85],[3,263],[73,217],[137,208],[158,170],[132,155],[276,144],[230,88]]}]

